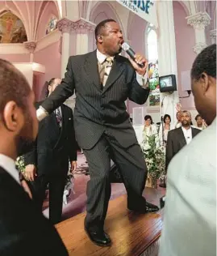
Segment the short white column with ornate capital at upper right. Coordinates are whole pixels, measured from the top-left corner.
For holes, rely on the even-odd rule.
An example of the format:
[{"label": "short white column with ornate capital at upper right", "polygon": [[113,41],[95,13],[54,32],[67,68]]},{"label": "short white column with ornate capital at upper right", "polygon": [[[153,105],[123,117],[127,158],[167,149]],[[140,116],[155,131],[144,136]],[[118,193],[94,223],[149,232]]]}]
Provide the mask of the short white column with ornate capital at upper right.
[{"label": "short white column with ornate capital at upper right", "polygon": [[186,17],[187,23],[194,28],[195,41],[194,53],[200,53],[207,47],[205,27],[211,23],[211,17],[207,12],[198,12],[195,15]]}]

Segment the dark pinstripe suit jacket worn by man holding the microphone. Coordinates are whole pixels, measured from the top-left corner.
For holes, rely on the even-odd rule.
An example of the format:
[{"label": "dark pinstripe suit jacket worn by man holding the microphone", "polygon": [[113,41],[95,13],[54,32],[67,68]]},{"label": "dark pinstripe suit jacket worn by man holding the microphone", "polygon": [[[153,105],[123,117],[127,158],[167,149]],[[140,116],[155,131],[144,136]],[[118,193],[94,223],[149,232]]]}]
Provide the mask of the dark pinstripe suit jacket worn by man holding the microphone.
[{"label": "dark pinstripe suit jacket worn by man holding the microphone", "polygon": [[41,106],[52,113],[74,91],[74,129],[81,148],[94,147],[106,129],[123,147],[137,142],[124,101],[129,98],[142,105],[149,90],[137,82],[136,71],[127,58],[115,57],[102,89],[96,51],[70,57],[65,79]]}]

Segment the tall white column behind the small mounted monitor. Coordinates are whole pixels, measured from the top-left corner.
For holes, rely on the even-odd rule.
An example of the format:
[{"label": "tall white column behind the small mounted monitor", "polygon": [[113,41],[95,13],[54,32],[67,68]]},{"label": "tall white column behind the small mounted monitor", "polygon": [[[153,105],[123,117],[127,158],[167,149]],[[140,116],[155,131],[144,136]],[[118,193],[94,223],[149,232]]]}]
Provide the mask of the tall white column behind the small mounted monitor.
[{"label": "tall white column behind the small mounted monitor", "polygon": [[[173,21],[173,2],[159,1],[157,2],[158,23],[158,66],[159,76],[176,75],[177,80],[177,56],[176,56],[176,41]],[[178,93],[173,94],[161,93],[161,115],[165,113],[171,117],[171,123],[175,122],[176,105],[179,103]]]}]

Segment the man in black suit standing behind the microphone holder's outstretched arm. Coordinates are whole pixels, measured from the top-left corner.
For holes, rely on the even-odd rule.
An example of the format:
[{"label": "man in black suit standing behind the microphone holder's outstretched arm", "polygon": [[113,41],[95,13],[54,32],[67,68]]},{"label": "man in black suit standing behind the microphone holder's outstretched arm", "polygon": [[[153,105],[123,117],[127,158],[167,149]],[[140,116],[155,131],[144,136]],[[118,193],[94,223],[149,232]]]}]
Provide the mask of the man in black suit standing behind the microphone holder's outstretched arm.
[{"label": "man in black suit standing behind the microphone holder's outstretched arm", "polygon": [[[61,79],[48,82],[48,96],[61,83]],[[42,102],[36,103],[36,109]],[[61,105],[48,118],[40,122],[34,147],[24,156],[26,178],[31,181],[33,200],[40,207],[49,184],[49,219],[52,224],[61,221],[63,194],[69,171],[77,165],[77,143],[73,128],[73,110]],[[36,177],[35,177],[36,176]]]}]

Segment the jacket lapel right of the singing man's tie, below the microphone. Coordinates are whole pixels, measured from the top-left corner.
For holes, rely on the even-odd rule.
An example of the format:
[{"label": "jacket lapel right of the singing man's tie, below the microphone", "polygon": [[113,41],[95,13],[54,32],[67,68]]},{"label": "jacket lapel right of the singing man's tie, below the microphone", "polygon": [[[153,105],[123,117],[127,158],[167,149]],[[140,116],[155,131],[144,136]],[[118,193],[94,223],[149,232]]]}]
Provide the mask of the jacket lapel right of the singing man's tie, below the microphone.
[{"label": "jacket lapel right of the singing man's tie, below the microphone", "polygon": [[106,90],[111,87],[113,83],[119,78],[119,76],[123,73],[124,66],[121,62],[121,59],[119,58],[119,55],[115,56],[114,63],[111,67],[111,72],[108,76],[108,79],[106,81],[106,85],[103,88],[103,92],[106,92]]}]

